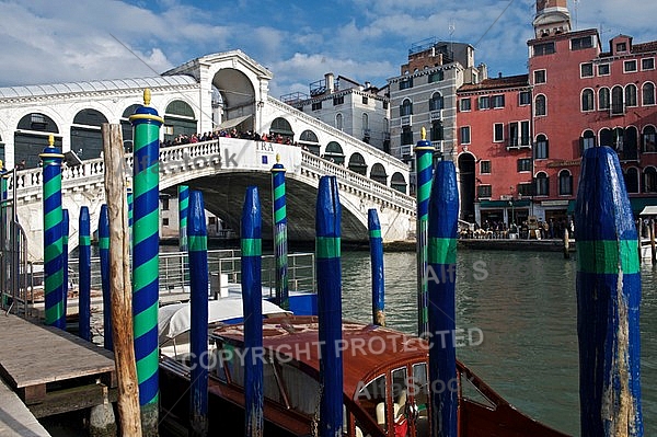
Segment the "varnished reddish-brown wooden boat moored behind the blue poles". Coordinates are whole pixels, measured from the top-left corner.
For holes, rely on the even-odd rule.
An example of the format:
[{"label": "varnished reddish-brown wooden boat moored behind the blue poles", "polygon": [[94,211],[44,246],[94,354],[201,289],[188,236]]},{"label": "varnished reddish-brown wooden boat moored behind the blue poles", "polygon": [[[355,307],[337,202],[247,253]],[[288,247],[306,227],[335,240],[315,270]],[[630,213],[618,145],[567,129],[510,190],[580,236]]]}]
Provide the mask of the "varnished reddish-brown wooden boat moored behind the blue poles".
[{"label": "varnished reddish-brown wooden boat moored behind the blue poles", "polygon": [[[316,317],[263,323],[265,436],[312,436],[319,423],[320,343]],[[243,434],[243,325],[214,331],[209,422],[221,435]],[[428,347],[390,329],[343,322],[344,435],[429,436]],[[162,357],[162,406],[186,417],[188,367]],[[459,391],[460,437],[560,437],[518,412],[462,364],[451,387]],[[228,434],[224,434],[228,433]]]}]

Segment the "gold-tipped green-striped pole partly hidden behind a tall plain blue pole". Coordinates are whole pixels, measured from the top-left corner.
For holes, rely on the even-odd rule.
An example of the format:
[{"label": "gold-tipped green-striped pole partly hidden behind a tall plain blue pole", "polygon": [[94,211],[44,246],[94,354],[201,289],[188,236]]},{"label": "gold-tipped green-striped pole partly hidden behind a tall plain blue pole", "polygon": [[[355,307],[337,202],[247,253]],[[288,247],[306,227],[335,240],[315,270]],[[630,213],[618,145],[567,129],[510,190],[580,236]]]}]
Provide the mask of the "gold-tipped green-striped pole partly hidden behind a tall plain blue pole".
[{"label": "gold-tipped green-striped pole partly hidden behind a tall plain blue pole", "polygon": [[417,333],[424,336],[429,332],[428,296],[427,296],[427,228],[429,220],[429,196],[431,194],[431,174],[434,146],[426,139],[426,130],[422,128],[422,139],[415,147],[415,181],[417,216],[415,218],[417,240]]}]

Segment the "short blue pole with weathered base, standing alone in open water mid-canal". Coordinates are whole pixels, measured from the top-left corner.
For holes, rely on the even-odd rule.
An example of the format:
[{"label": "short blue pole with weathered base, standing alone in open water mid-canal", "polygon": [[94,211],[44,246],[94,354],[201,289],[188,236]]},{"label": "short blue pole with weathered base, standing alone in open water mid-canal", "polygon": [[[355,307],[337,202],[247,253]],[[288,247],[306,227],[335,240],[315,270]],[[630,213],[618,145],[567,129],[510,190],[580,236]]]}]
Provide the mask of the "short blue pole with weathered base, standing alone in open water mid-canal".
[{"label": "short blue pole with weathered base, standing alone in open water mid-canal", "polygon": [[370,235],[370,264],[372,269],[372,323],[385,326],[385,276],[383,273],[383,239],[376,208],[367,211]]}]

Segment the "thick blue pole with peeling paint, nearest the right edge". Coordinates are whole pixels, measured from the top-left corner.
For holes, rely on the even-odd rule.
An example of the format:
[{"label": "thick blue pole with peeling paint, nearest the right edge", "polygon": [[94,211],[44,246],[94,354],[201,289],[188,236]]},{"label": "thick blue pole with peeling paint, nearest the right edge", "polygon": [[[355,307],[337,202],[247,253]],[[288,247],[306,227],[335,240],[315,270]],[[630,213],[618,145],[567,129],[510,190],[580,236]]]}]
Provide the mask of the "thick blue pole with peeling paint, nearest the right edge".
[{"label": "thick blue pole with peeling paint, nearest the right edge", "polygon": [[615,152],[586,150],[575,208],[583,437],[642,437],[638,235]]}]

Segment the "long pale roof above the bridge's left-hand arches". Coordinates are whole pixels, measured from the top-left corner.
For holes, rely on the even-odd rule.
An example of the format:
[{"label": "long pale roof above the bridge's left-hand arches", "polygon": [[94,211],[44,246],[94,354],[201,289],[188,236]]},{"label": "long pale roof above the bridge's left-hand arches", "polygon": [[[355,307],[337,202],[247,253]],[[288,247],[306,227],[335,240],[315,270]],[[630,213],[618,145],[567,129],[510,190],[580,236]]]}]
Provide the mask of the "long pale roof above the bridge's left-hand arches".
[{"label": "long pale roof above the bridge's left-hand arches", "polygon": [[36,97],[83,92],[136,90],[197,83],[189,76],[157,76],[151,78],[95,80],[25,87],[0,88],[0,99]]}]

